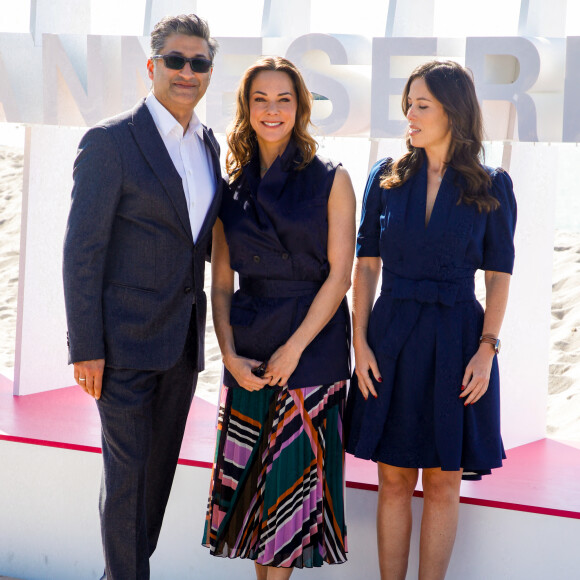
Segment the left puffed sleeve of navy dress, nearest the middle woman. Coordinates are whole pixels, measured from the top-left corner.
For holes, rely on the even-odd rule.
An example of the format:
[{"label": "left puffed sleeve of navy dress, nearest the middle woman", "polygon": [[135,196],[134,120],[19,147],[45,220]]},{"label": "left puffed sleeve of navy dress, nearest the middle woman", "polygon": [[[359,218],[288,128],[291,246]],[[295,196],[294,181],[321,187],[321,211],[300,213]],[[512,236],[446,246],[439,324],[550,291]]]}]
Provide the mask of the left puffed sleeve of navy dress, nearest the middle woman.
[{"label": "left puffed sleeve of navy dress, nearest the middle woman", "polygon": [[380,256],[382,189],[379,185],[385,167],[390,159],[377,161],[369,173],[363,205],[360,226],[356,238],[357,258],[374,258]]}]

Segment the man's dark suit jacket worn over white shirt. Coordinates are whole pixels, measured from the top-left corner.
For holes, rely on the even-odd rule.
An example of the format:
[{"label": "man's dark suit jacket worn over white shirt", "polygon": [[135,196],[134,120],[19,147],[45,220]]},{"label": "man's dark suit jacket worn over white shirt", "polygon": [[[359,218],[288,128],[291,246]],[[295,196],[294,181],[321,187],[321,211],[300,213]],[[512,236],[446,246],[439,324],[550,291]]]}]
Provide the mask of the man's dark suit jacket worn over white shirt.
[{"label": "man's dark suit jacket worn over white shirt", "polygon": [[224,183],[205,127],[204,142],[218,187],[194,244],[181,177],[144,101],[81,140],[64,243],[69,362],[167,370],[195,302],[203,370],[204,267]]}]

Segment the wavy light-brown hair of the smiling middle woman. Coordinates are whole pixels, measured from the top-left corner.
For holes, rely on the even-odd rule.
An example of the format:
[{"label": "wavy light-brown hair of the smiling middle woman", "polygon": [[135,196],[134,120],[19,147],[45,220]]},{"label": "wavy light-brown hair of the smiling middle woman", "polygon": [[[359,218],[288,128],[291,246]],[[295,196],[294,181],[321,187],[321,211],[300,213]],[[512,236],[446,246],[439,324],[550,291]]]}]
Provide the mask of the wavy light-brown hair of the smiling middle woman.
[{"label": "wavy light-brown hair of the smiling middle woman", "polygon": [[250,161],[258,147],[256,132],[250,125],[250,90],[256,76],[264,71],[286,73],[294,86],[298,108],[296,122],[292,130],[292,139],[302,154],[302,161],[296,169],[300,170],[306,167],[316,155],[318,145],[308,132],[312,111],[312,95],[306,88],[300,71],[285,58],[279,56],[263,57],[246,70],[238,88],[236,114],[227,133],[229,149],[226,155],[226,172],[232,181],[241,175],[244,165]]}]

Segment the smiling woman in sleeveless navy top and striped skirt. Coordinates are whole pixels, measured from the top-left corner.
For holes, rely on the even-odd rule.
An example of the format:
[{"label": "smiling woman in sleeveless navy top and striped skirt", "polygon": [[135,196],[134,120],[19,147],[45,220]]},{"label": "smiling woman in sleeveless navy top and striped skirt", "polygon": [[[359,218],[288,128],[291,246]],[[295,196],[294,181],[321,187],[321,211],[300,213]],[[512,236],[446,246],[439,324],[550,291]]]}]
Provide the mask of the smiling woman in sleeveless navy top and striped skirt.
[{"label": "smiling woman in sleeveless navy top and striped skirt", "polygon": [[315,155],[310,108],[286,59],[246,71],[228,135],[230,192],[213,237],[225,368],[203,544],[254,560],[259,580],[346,560],[355,196],[348,173]]}]

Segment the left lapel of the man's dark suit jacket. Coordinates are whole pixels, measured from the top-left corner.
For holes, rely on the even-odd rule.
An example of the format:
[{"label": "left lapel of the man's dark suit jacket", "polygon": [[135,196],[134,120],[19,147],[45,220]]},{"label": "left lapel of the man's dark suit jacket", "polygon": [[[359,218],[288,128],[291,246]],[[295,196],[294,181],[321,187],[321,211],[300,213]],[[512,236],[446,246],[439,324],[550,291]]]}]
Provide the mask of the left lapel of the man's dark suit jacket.
[{"label": "left lapel of the man's dark suit jacket", "polygon": [[175,169],[173,161],[165,148],[163,139],[159,135],[155,121],[144,101],[133,109],[133,122],[129,125],[135,141],[139,145],[143,156],[157,178],[163,185],[165,192],[171,199],[179,220],[193,243],[187,201],[183,191],[181,176]]}]

